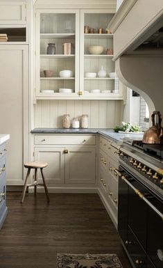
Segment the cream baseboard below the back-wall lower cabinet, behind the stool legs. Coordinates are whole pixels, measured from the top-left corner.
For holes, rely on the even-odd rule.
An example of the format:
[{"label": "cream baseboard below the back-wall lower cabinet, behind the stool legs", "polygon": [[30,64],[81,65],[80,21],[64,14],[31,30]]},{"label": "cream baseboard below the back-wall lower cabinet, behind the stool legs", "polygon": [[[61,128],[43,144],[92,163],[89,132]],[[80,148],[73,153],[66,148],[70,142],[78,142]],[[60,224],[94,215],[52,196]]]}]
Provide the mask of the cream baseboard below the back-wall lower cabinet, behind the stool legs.
[{"label": "cream baseboard below the back-wall lower cabinet, behind the stool legs", "polygon": [[[83,194],[96,194],[96,187],[48,187],[49,193],[83,193]],[[34,187],[28,187],[28,193],[33,193]],[[38,193],[44,193],[43,187],[37,187]]]}]

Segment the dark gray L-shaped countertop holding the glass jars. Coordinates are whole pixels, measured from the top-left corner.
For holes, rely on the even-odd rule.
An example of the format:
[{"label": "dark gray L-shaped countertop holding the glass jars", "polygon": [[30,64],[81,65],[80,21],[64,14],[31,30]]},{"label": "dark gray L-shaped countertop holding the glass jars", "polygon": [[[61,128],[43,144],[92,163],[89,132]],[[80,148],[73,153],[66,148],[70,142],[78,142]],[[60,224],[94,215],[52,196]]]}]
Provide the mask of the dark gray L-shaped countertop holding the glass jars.
[{"label": "dark gray L-shaped countertop holding the glass jars", "polygon": [[106,138],[113,139],[115,142],[121,141],[124,137],[128,138],[138,138],[141,139],[143,134],[123,134],[114,132],[113,129],[98,129],[98,128],[88,128],[88,129],[64,129],[64,128],[50,128],[50,127],[40,127],[35,128],[31,131],[33,134],[101,134]]}]

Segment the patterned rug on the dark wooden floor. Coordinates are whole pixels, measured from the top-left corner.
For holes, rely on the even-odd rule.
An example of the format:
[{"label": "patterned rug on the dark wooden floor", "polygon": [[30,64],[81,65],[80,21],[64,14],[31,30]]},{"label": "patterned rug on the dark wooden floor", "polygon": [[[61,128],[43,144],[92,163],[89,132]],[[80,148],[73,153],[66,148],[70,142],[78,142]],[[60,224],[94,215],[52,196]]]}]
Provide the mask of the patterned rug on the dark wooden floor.
[{"label": "patterned rug on the dark wooden floor", "polygon": [[122,268],[116,254],[58,254],[58,268]]}]

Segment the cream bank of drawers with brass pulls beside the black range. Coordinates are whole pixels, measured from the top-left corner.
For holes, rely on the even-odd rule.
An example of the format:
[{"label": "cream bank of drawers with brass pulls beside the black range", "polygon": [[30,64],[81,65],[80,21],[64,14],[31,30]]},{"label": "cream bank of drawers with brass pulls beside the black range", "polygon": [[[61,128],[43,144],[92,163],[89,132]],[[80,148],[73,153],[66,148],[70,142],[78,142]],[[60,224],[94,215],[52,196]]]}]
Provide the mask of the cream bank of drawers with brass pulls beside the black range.
[{"label": "cream bank of drawers with brass pulls beside the black range", "polygon": [[114,170],[118,168],[118,146],[112,139],[106,139],[100,135],[98,192],[116,227],[118,217],[118,178]]}]

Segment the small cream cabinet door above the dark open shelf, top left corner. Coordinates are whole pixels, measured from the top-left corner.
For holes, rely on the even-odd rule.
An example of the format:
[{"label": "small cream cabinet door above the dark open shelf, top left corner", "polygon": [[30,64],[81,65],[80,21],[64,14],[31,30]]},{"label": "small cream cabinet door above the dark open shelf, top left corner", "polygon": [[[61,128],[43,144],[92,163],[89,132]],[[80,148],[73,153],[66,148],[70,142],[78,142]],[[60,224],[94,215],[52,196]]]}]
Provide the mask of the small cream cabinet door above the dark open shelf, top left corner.
[{"label": "small cream cabinet door above the dark open shelf, top left corner", "polygon": [[26,1],[0,1],[0,24],[24,24]]}]

